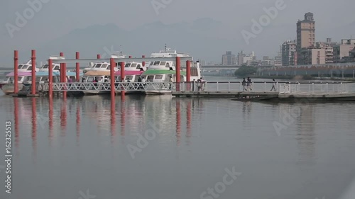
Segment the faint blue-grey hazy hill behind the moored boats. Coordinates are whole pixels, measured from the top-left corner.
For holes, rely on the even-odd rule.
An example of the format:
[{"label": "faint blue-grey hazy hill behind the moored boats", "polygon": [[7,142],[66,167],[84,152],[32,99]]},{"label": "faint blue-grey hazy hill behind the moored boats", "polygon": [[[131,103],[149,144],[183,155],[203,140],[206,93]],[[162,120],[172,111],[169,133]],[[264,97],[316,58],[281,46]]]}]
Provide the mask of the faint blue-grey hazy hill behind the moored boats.
[{"label": "faint blue-grey hazy hill behind the moored boats", "polygon": [[[38,61],[45,61],[50,55],[58,55],[59,52],[64,52],[67,58],[75,58],[77,51],[81,58],[95,58],[97,54],[109,57],[111,50],[123,50],[124,54],[133,57],[148,57],[152,52],[163,50],[166,43],[178,52],[190,53],[194,59],[219,60],[226,50],[236,49],[235,38],[227,40],[217,36],[221,30],[222,23],[211,18],[168,25],[161,22],[148,23],[130,31],[108,23],[72,30],[36,50]],[[212,56],[205,55],[202,50]],[[9,53],[11,59],[6,57],[9,66],[13,64],[12,53]],[[0,57],[1,60],[3,58]]]}]

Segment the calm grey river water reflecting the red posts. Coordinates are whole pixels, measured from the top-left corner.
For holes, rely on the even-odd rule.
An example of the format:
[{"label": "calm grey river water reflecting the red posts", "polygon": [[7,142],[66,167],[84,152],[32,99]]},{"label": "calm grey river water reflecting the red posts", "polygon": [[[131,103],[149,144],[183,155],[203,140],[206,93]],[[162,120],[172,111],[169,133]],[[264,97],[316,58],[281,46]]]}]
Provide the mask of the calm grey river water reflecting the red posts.
[{"label": "calm grey river water reflecting the red posts", "polygon": [[117,96],[113,114],[104,96],[0,102],[13,154],[1,199],[331,199],[355,179],[351,102]]}]

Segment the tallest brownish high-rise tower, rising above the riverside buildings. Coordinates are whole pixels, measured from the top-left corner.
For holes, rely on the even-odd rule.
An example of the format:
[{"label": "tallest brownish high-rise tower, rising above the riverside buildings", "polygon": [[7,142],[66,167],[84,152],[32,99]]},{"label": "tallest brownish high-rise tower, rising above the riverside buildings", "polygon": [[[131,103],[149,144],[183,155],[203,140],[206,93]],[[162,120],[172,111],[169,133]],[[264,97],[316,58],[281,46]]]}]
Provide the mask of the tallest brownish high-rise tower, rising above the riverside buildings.
[{"label": "tallest brownish high-rise tower, rising above the riverside buildings", "polygon": [[313,13],[305,13],[305,19],[297,21],[297,52],[303,47],[315,45],[315,20]]}]

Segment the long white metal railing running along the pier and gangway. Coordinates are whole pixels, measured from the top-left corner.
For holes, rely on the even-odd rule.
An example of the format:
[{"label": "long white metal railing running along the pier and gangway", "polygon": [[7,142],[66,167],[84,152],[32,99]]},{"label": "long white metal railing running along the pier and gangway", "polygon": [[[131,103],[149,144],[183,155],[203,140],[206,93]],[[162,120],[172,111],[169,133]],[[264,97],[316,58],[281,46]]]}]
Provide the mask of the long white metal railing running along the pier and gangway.
[{"label": "long white metal railing running along the pier and gangway", "polygon": [[[48,91],[48,84],[37,84],[38,91]],[[271,91],[273,82],[253,82],[249,86],[240,81],[181,82],[116,82],[115,91],[193,91],[193,92],[263,92],[263,93],[349,93],[349,84],[300,84],[295,82],[277,83],[276,91]],[[353,84],[355,88],[355,84]],[[53,83],[53,91],[111,91],[111,84],[92,82]],[[351,91],[354,92],[354,91]]]}]

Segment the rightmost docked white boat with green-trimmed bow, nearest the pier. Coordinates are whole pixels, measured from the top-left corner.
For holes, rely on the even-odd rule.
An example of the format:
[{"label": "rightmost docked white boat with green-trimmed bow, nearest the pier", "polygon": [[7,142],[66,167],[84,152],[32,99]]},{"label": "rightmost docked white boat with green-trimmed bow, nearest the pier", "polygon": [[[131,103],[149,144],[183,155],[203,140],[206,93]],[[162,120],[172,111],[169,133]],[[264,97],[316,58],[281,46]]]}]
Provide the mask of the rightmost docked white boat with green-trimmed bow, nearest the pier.
[{"label": "rightmost docked white boat with green-trimmed bow, nearest the pier", "polygon": [[[154,52],[151,54],[151,57],[156,57],[156,61],[152,61],[148,64],[148,69],[146,72],[143,72],[142,77],[146,79],[147,82],[168,82],[170,81],[170,76],[173,77],[173,82],[176,82],[176,68],[175,61],[159,61],[160,57],[190,57],[187,53],[180,53],[176,50],[170,50],[170,48],[166,47],[165,50],[160,50],[160,52]],[[186,62],[180,63],[181,72],[180,72],[180,81],[186,81]],[[190,69],[190,80],[193,81],[195,79],[200,79],[201,70],[200,70],[200,62],[192,62]],[[170,94],[171,89],[170,86],[166,86],[161,90],[156,91],[145,91],[147,95],[150,94]]]}]

